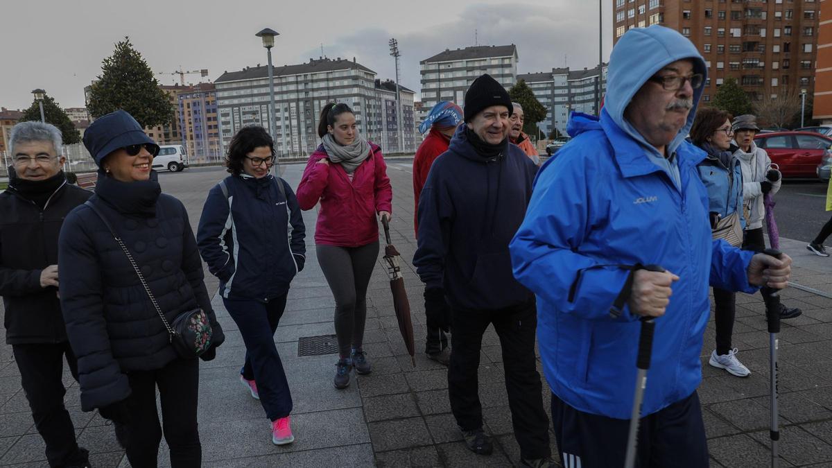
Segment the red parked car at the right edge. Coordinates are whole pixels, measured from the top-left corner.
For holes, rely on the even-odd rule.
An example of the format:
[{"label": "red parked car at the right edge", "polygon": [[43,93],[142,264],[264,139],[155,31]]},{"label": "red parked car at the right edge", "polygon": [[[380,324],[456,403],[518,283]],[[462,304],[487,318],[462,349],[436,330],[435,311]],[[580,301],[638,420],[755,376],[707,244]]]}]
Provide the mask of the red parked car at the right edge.
[{"label": "red parked car at the right edge", "polygon": [[759,133],[754,142],[780,167],[784,178],[817,178],[821,161],[832,155],[832,138],[815,132]]}]

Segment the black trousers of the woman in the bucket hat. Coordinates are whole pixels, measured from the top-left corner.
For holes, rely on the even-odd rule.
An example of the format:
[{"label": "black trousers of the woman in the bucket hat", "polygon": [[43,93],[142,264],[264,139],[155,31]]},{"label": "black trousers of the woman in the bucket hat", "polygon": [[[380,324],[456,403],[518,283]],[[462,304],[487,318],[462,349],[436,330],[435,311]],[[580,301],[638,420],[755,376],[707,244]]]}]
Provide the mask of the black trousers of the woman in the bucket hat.
[{"label": "black trousers of the woman in the bucket hat", "polygon": [[[176,359],[155,371],[127,372],[132,392],[126,399],[130,415],[126,452],[133,468],[157,466],[163,431],[171,449],[171,466],[201,466],[202,446],[196,427],[199,372],[198,359]],[[161,427],[156,387],[161,399]]]}]

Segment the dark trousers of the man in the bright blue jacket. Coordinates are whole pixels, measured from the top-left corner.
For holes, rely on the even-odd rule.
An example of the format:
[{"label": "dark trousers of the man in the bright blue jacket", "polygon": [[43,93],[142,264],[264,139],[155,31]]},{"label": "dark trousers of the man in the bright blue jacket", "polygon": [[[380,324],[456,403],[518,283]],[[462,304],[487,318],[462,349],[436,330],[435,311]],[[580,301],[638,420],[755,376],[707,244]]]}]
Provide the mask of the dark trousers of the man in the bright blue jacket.
[{"label": "dark trousers of the man in the bright blue jacket", "polygon": [[[563,466],[624,466],[630,420],[578,411],[552,393],[552,426]],[[641,418],[637,441],[639,468],[707,468],[705,424],[696,391]]]}]

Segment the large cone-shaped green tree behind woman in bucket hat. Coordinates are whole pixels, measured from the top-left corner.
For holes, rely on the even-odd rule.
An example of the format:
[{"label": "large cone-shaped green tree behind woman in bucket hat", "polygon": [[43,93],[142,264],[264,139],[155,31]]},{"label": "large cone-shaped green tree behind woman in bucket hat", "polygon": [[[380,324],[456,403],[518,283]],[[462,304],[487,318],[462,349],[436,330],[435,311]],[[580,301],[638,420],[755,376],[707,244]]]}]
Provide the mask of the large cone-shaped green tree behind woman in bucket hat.
[{"label": "large cone-shaped green tree behind woman in bucket hat", "polygon": [[112,55],[103,60],[102,75],[92,84],[87,109],[92,117],[124,109],[142,127],[164,125],[174,117],[171,102],[130,37],[116,43]]}]

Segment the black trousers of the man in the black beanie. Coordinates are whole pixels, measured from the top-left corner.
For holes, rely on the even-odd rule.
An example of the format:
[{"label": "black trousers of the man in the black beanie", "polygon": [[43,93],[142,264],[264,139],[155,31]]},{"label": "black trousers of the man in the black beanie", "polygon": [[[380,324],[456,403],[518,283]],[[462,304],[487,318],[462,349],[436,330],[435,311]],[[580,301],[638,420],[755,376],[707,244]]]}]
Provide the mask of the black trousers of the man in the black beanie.
[{"label": "black trousers of the man in the black beanie", "polygon": [[537,307],[527,305],[491,311],[453,309],[448,396],[451,411],[463,431],[483,426],[479,401],[479,354],[483,333],[493,324],[503,348],[508,407],[520,456],[537,459],[551,455],[546,411],[543,410],[540,374],[534,356]]}]

